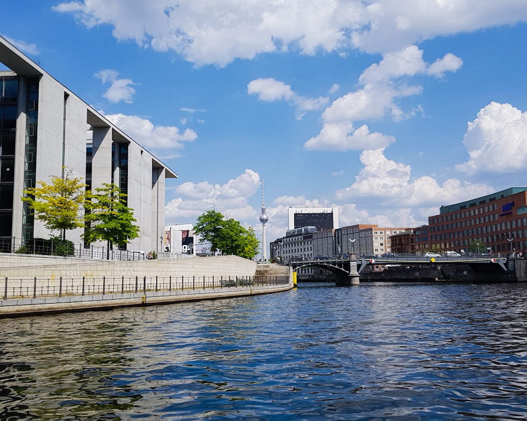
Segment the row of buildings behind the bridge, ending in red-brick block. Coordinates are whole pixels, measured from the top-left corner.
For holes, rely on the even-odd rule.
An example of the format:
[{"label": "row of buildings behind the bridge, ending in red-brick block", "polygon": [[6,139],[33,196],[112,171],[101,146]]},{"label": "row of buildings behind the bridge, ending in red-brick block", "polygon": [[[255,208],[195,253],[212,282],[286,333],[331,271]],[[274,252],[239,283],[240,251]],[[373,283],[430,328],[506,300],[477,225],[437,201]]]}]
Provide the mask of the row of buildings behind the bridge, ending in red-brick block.
[{"label": "row of buildings behind the bridge, ending in red-brick block", "polygon": [[[428,217],[427,225],[416,228],[368,224],[339,228],[337,208],[289,208],[289,229],[285,237],[269,244],[270,257],[287,261],[341,254],[451,250],[507,254],[527,249],[527,187],[511,187],[439,210]],[[333,226],[328,228],[330,220]]]}]

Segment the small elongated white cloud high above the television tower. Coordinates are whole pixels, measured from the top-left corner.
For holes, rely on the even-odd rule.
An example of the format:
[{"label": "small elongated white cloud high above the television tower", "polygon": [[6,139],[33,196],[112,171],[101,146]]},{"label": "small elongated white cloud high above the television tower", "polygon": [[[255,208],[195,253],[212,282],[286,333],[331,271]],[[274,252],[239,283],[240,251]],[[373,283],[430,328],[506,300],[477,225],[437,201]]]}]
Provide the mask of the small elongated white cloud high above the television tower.
[{"label": "small elongated white cloud high above the television tower", "polygon": [[308,98],[292,91],[291,86],[274,78],[255,79],[247,85],[249,95],[258,95],[260,101],[286,101],[296,106],[296,118],[301,119],[307,111],[321,109],[327,105],[329,98]]}]

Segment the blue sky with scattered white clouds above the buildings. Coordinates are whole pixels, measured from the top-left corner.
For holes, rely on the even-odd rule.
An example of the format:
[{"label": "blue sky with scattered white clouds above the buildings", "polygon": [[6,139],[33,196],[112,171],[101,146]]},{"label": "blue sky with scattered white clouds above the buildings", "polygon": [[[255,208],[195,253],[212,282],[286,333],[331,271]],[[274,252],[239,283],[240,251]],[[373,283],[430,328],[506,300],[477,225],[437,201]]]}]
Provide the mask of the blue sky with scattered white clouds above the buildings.
[{"label": "blue sky with scattered white clouds above the buildings", "polygon": [[167,224],[413,227],[527,186],[524,0],[10,2],[0,35],[162,159]]}]

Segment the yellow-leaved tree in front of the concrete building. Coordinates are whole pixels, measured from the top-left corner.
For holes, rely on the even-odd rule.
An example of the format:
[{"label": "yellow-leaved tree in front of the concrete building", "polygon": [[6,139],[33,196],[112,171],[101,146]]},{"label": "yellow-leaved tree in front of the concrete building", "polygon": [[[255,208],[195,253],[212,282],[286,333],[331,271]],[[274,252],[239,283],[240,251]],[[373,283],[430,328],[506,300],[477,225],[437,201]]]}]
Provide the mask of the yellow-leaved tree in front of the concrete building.
[{"label": "yellow-leaved tree in front of the concrete building", "polygon": [[61,230],[65,240],[66,230],[84,226],[82,208],[86,184],[82,178],[72,177],[71,169],[65,169],[63,174],[63,177],[52,176],[51,184],[41,181],[36,187],[25,189],[21,199],[33,209],[35,218],[42,220],[47,229]]}]

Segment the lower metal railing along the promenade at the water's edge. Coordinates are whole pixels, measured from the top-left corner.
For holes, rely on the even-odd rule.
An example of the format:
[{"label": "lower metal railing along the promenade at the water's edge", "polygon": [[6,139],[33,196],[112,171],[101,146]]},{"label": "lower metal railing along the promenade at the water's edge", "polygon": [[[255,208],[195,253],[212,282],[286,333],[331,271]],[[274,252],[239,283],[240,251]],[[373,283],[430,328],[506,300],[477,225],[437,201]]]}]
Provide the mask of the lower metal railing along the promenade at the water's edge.
[{"label": "lower metal railing along the promenade at the water's edge", "polygon": [[289,276],[5,277],[2,299],[287,285]]}]

